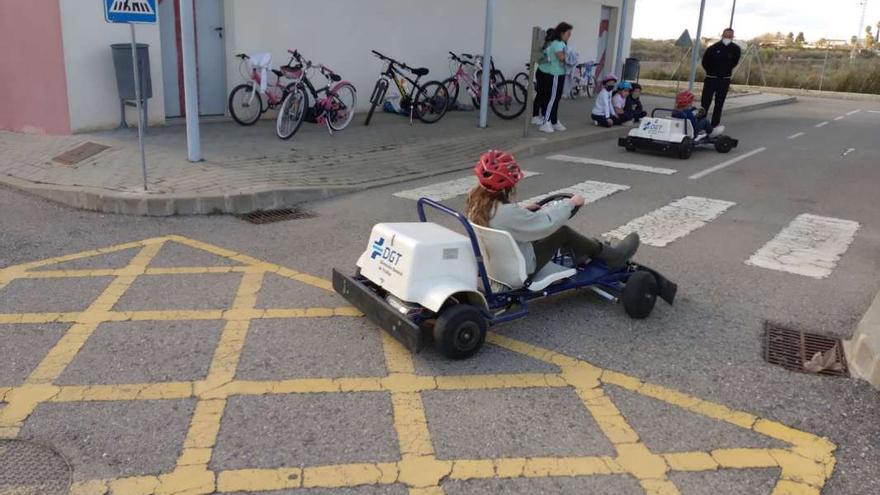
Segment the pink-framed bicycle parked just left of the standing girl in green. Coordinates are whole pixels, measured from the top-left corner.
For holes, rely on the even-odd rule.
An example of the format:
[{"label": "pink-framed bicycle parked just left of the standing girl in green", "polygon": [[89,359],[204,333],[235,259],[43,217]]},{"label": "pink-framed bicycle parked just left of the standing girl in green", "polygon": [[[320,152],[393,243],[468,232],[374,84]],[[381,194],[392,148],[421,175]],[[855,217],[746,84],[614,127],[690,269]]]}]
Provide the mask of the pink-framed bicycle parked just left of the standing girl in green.
[{"label": "pink-framed bicycle parked just left of the standing girl in green", "polygon": [[[458,62],[458,69],[452,77],[443,81],[443,86],[449,93],[448,101],[450,104],[451,102],[458,101],[460,86],[464,85],[465,90],[470,94],[474,102],[474,106],[479,107],[481,81],[476,76],[481,74],[481,71],[475,70],[473,75],[471,75],[464,68],[468,65],[477,67],[475,62],[459,57],[452,52],[449,52],[449,58]],[[498,73],[500,74],[500,71]],[[502,119],[515,119],[523,113],[526,109],[525,94],[526,88],[516,81],[505,79],[498,81],[498,78],[489,78],[489,108]]]}]

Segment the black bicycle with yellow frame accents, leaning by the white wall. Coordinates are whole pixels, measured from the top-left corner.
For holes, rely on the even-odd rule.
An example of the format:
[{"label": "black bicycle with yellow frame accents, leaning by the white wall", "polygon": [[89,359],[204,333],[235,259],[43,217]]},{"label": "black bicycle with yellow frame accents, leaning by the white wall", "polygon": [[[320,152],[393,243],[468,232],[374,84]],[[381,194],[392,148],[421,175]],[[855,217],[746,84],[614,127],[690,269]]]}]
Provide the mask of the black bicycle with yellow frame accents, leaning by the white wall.
[{"label": "black bicycle with yellow frame accents, leaning by the white wall", "polygon": [[[433,124],[443,118],[443,115],[446,114],[449,99],[446,88],[437,81],[429,81],[421,86],[419,85],[419,79],[422,76],[428,75],[428,69],[424,67],[413,68],[403,62],[398,62],[391,57],[382,55],[376,50],[371,51],[379,60],[387,61],[388,65],[379,74],[379,79],[373,87],[373,93],[370,95],[370,111],[367,113],[367,120],[364,122],[364,125],[370,125],[370,120],[373,118],[373,112],[376,111],[376,107],[385,102],[385,95],[388,93],[391,81],[394,81],[397,92],[400,94],[400,107],[409,111],[410,125],[412,125],[413,117],[426,124]],[[415,79],[407,77],[403,70],[414,75]],[[404,81],[409,82],[409,90],[407,90],[407,85]]]}]

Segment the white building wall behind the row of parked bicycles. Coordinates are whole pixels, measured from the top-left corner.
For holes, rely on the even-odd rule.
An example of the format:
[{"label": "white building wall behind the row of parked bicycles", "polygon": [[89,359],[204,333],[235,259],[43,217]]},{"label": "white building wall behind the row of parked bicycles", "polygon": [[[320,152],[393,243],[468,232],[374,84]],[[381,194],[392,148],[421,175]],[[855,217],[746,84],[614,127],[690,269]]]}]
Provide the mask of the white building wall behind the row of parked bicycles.
[{"label": "white building wall behind the row of parked bicycles", "polygon": [[[525,69],[532,26],[574,25],[570,40],[581,60],[594,60],[602,5],[621,0],[500,0],[495,12],[493,48],[496,66],[508,77]],[[630,0],[631,32],[635,0]],[[242,80],[236,53],[271,52],[275,66],[288,48],[339,72],[358,89],[360,107],[384,65],[378,50],[411,66],[430,69],[423,80],[450,76],[448,51],[482,52],[485,1],[482,0],[226,0],[227,86]],[[616,30],[616,26],[612,26]],[[629,50],[629,38],[625,50]],[[612,56],[616,45],[609,46]]]}]

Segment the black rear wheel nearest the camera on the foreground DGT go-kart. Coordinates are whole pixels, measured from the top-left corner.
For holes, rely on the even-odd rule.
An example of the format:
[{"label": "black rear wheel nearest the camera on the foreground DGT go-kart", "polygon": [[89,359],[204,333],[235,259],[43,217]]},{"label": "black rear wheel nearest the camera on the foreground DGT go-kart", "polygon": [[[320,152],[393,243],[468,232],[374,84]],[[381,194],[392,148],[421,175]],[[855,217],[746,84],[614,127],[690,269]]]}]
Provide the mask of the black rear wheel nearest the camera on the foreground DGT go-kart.
[{"label": "black rear wheel nearest the camera on the foreground DGT go-kart", "polygon": [[488,325],[480,310],[456,304],[444,310],[434,324],[434,345],[449,359],[467,359],[486,341]]}]

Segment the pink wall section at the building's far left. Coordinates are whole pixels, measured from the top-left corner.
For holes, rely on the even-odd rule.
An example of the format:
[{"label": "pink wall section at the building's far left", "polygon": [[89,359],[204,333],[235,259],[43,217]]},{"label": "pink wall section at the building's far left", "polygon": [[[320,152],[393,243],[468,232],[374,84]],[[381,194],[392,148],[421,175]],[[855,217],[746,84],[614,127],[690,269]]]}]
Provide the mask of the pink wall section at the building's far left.
[{"label": "pink wall section at the building's far left", "polygon": [[58,0],[0,0],[0,129],[70,134]]}]

